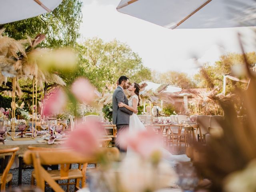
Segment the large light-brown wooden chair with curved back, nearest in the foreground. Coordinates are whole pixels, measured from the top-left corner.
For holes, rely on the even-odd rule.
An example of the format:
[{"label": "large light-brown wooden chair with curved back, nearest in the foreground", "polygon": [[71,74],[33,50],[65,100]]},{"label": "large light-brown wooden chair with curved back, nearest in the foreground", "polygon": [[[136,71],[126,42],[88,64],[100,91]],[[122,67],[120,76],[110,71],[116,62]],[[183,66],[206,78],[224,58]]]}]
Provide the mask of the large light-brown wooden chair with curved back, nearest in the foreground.
[{"label": "large light-brown wooden chair with curved back, nearest in the foreground", "polygon": [[[108,157],[117,159],[119,150],[117,148],[102,148]],[[67,158],[68,157],[68,158]],[[54,191],[64,192],[57,180],[75,179],[75,188],[79,188],[79,181],[82,180],[82,188],[86,186],[86,168],[88,163],[97,162],[95,157],[85,157],[72,150],[28,150],[24,154],[26,164],[34,165],[35,171],[32,174],[36,178],[37,186],[44,191],[45,182],[52,187]],[[70,164],[78,163],[78,169],[70,169]],[[42,165],[60,164],[60,170],[46,171]]]}]

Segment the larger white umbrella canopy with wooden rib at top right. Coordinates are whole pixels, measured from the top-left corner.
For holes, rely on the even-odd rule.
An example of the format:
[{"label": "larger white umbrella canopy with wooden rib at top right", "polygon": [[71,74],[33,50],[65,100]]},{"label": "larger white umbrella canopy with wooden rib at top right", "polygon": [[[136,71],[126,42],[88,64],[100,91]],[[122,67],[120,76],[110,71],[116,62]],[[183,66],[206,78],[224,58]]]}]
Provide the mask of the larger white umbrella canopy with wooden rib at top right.
[{"label": "larger white umbrella canopy with wooden rib at top right", "polygon": [[255,26],[255,0],[121,0],[119,12],[166,28]]}]

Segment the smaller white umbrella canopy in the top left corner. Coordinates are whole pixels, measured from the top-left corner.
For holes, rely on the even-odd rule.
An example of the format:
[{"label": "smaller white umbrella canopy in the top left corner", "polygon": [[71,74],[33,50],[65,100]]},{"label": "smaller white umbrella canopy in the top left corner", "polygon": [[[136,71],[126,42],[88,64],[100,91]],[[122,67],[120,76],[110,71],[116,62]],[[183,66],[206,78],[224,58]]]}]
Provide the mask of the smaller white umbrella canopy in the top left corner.
[{"label": "smaller white umbrella canopy in the top left corner", "polygon": [[51,12],[62,0],[4,0],[0,2],[0,24]]}]

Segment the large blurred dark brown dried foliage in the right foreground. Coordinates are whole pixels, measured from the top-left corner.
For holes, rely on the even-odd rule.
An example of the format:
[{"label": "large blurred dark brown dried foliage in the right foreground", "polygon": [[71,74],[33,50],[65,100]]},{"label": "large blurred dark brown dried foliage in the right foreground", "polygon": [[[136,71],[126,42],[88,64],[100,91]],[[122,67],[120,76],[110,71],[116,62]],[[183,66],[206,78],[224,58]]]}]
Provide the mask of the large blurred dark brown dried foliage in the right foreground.
[{"label": "large blurred dark brown dried foliage in the right foreground", "polygon": [[[245,54],[244,62],[248,67]],[[239,112],[243,119],[238,118],[236,100],[232,101],[234,96],[220,96],[222,98],[219,98],[218,102],[224,110],[224,120],[219,122],[223,130],[221,136],[211,136],[210,140],[206,140],[206,145],[194,143],[201,157],[200,161],[194,164],[203,177],[212,181],[210,191],[224,191],[225,179],[230,174],[246,168],[246,165],[256,159],[256,78],[248,68],[247,73],[250,78],[248,90],[236,89],[236,96],[242,101]],[[254,183],[254,176],[246,180]],[[244,183],[236,183],[236,185],[240,189],[242,187],[239,191],[256,190],[255,185],[247,186]]]}]

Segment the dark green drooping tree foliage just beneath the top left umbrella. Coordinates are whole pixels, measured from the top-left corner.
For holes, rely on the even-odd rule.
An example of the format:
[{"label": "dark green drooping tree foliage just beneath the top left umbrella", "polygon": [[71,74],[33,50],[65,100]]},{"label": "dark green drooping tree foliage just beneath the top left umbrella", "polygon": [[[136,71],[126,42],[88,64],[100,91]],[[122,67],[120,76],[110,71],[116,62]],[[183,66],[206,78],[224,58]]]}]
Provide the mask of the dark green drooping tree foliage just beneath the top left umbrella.
[{"label": "dark green drooping tree foliage just beneath the top left umbrella", "polygon": [[61,47],[74,46],[80,36],[79,28],[82,22],[82,2],[80,0],[63,0],[50,13],[0,25],[6,28],[5,34],[16,40],[34,38],[37,34],[46,35],[46,40],[40,46]]}]

